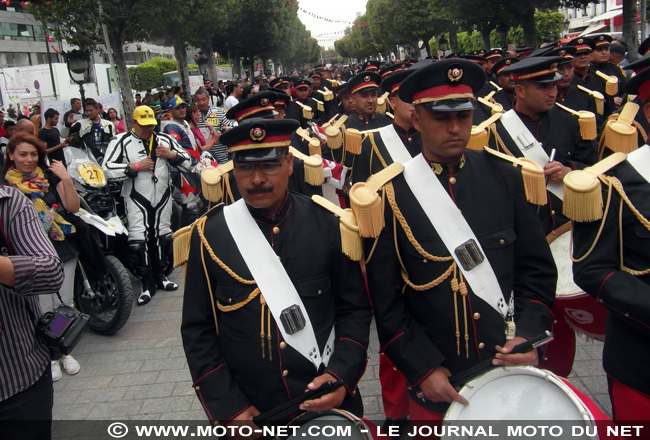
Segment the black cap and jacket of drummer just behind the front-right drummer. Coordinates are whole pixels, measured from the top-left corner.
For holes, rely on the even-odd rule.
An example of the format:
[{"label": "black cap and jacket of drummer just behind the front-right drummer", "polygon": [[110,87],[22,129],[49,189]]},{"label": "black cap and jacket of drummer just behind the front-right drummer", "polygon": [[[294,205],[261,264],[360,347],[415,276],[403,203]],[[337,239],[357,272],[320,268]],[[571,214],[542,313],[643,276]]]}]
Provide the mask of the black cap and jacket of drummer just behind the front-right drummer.
[{"label": "black cap and jacket of drummer just behind the front-right drummer", "polygon": [[[532,71],[538,70],[544,73],[550,62],[559,60],[560,57],[530,57],[506,68],[504,72],[514,73],[515,81],[517,81],[518,72],[529,73],[528,71],[532,69]],[[544,67],[545,65],[546,67]],[[531,77],[529,80],[553,82],[558,81],[560,78],[561,76],[555,71],[552,74],[542,74],[538,78]],[[516,109],[514,110],[516,111]],[[574,170],[583,169],[596,162],[596,145],[594,141],[584,140],[580,137],[578,120],[574,115],[557,107],[552,107],[551,110],[542,113],[539,119],[533,119],[519,112],[517,114],[530,133],[542,144],[544,151],[549,156],[551,150],[556,150],[555,161]],[[523,153],[510,137],[501,121],[497,121],[495,124],[502,142],[499,142],[495,137],[491,137],[490,147],[501,151],[507,150],[515,157],[522,157]],[[550,192],[548,196],[547,205],[539,210],[540,220],[546,234],[568,222],[568,219],[562,214],[562,201]]]}]

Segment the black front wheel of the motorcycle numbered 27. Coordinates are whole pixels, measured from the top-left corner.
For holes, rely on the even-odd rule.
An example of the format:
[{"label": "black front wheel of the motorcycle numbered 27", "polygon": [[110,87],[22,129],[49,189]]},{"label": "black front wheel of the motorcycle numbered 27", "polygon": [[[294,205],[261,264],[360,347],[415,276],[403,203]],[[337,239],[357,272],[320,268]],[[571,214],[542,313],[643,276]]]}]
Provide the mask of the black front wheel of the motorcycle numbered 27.
[{"label": "black front wheel of the motorcycle numbered 27", "polygon": [[83,285],[79,266],[75,274],[75,302],[79,310],[90,315],[90,328],[102,335],[111,335],[124,327],[133,307],[133,286],[124,265],[113,255],[105,255],[106,273],[91,282],[94,297]]}]

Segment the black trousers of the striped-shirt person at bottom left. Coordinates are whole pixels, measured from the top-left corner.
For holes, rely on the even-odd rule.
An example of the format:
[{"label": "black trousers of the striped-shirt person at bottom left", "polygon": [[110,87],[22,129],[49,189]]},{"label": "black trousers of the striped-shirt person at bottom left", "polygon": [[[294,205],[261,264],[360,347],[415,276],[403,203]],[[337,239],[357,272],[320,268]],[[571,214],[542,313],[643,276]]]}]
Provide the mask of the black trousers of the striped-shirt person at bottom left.
[{"label": "black trousers of the striped-shirt person at bottom left", "polygon": [[52,438],[52,370],[31,387],[0,402],[2,440],[50,440]]}]

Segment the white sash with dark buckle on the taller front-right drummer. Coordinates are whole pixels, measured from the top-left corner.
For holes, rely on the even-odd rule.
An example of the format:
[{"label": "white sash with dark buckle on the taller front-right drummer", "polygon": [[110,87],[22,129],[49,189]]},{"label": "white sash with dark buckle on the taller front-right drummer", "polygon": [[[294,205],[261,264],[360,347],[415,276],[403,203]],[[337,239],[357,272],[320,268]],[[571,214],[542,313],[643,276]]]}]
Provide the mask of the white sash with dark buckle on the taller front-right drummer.
[{"label": "white sash with dark buckle on the taller front-right drummer", "polygon": [[[503,298],[501,286],[499,286],[499,281],[497,281],[487,255],[467,224],[465,217],[462,216],[447,191],[442,187],[422,154],[418,154],[404,164],[404,179],[431,225],[463,272],[472,291],[505,319],[508,313],[508,304]],[[465,270],[454,250],[470,238],[474,239],[485,260],[472,270]]]}]

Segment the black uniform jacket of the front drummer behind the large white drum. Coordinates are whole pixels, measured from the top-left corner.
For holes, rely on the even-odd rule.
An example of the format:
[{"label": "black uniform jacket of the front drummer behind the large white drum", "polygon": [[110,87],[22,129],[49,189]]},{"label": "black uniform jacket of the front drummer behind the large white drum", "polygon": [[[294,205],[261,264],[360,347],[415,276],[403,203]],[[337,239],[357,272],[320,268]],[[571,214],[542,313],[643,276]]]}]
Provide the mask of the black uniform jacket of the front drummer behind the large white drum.
[{"label": "black uniform jacket of the front drummer behind the large white drum", "polygon": [[[445,169],[438,178],[485,250],[506,301],[514,291],[516,335],[532,337],[549,330],[557,271],[535,208],[525,199],[520,172],[488,153],[468,150],[462,167],[457,167],[452,174]],[[449,251],[403,175],[393,179],[392,184],[396,204],[415,240],[429,254],[449,257]],[[458,355],[452,277],[424,291],[408,285],[399,288],[404,282],[397,252],[415,285],[435,280],[448,270],[451,262],[433,261],[416,250],[401,224],[396,225],[397,237],[394,237],[393,215],[387,202],[386,225],[367,264],[368,285],[381,350],[401,370],[411,387],[415,387],[439,365],[455,374],[493,356],[495,346],[505,343],[504,319],[469,288],[466,315],[469,357],[466,358],[463,301],[459,294]],[[365,244],[369,255],[374,240],[368,239]],[[444,412],[447,406],[425,405],[437,412]]]}]

